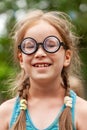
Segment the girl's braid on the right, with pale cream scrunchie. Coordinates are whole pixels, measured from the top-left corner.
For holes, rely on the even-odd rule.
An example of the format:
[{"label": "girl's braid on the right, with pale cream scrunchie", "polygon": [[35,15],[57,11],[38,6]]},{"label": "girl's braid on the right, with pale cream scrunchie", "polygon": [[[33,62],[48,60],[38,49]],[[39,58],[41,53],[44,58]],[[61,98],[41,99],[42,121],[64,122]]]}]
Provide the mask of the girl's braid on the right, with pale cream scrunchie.
[{"label": "girl's braid on the right, with pale cream scrunchie", "polygon": [[[67,71],[64,69],[62,71],[62,79],[64,82],[64,88],[66,89],[66,96],[70,96],[70,85],[68,82],[68,74]],[[60,116],[59,130],[73,130],[71,108],[68,106],[65,108],[65,110],[62,112]]]}]

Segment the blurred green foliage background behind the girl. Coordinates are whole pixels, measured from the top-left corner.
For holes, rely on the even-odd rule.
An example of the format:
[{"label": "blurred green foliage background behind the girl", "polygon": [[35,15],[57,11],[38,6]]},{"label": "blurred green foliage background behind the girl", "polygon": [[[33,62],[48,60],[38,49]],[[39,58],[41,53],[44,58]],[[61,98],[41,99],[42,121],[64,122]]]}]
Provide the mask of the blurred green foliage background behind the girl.
[{"label": "blurred green foliage background behind the girl", "polygon": [[80,56],[84,63],[82,75],[85,80],[85,98],[87,84],[87,0],[0,0],[0,103],[11,97],[7,79],[16,72],[11,51],[9,34],[16,22],[27,10],[59,10],[70,15],[77,33],[82,37]]}]

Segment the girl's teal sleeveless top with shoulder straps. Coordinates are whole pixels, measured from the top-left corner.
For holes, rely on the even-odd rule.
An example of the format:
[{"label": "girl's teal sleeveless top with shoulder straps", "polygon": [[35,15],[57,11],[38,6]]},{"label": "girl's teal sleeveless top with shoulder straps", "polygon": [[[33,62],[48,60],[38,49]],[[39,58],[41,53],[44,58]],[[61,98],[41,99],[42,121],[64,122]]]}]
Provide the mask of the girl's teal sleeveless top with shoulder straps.
[{"label": "girl's teal sleeveless top with shoulder straps", "polygon": [[[75,92],[73,92],[71,90],[70,91],[70,95],[71,95],[71,97],[73,99],[73,101],[72,101],[72,108],[71,108],[72,121],[73,121],[73,130],[76,130],[76,128],[75,128],[75,121],[74,121],[76,94],[75,94]],[[62,113],[62,111],[64,109],[65,109],[65,105],[63,105],[61,107],[60,111],[57,114],[56,119],[51,123],[51,125],[49,127],[47,127],[46,129],[44,129],[44,130],[59,130],[59,125],[58,125],[59,117],[60,117],[60,115],[61,115],[61,113]],[[13,113],[12,113],[11,121],[10,121],[10,128],[15,123],[19,113],[20,113],[20,101],[19,101],[19,98],[17,97],[15,105],[14,105],[14,110],[13,110]],[[37,129],[34,126],[32,120],[31,120],[31,117],[30,117],[30,113],[29,113],[28,110],[25,111],[25,114],[26,114],[26,130],[39,130],[39,129]]]}]

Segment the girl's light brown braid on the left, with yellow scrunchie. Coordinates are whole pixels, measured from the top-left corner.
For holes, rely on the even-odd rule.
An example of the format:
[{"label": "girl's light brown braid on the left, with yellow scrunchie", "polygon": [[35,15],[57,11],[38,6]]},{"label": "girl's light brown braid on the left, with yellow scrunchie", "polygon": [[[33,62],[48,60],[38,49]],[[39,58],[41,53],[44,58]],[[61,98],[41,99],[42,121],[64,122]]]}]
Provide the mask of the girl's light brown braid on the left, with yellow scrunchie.
[{"label": "girl's light brown braid on the left, with yellow scrunchie", "polygon": [[[18,90],[20,99],[28,99],[29,86],[29,78],[26,78],[22,83],[21,89]],[[20,114],[11,130],[26,130],[25,110],[20,111]]]}]

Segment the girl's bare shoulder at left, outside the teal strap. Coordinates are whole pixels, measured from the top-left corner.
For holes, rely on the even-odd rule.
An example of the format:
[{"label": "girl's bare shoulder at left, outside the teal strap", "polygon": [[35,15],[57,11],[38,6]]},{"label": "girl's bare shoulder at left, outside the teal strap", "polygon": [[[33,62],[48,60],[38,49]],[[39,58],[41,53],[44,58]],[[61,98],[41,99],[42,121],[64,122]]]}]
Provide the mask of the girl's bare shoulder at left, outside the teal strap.
[{"label": "girl's bare shoulder at left, outside the teal strap", "polygon": [[15,100],[16,98],[13,98],[0,105],[0,130],[8,130]]}]

